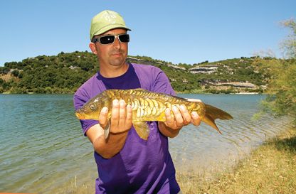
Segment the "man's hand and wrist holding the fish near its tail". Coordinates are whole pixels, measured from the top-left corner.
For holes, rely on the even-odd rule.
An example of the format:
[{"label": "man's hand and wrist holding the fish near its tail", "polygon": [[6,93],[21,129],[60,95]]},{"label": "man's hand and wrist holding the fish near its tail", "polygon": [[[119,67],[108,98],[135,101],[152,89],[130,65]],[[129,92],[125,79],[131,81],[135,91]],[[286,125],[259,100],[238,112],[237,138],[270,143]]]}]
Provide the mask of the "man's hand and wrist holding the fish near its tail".
[{"label": "man's hand and wrist holding the fish near its tail", "polygon": [[[189,99],[192,102],[201,102],[199,99]],[[174,113],[174,116],[171,116],[171,110]],[[184,105],[178,107],[173,106],[171,109],[165,110],[166,122],[159,122],[159,130],[165,136],[175,137],[179,134],[180,129],[190,123],[195,126],[201,124],[201,118],[197,112],[191,112],[189,114],[188,110]]]}]

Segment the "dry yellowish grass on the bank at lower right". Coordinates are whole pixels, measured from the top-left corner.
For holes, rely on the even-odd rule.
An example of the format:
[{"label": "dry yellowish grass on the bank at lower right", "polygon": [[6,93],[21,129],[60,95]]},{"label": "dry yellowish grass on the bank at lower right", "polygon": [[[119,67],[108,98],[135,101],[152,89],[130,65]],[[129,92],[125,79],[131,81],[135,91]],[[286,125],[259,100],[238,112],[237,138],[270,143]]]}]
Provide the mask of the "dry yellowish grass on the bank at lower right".
[{"label": "dry yellowish grass on the bank at lower right", "polygon": [[177,172],[185,193],[295,193],[296,128],[269,139],[250,156],[213,178],[191,172]]}]

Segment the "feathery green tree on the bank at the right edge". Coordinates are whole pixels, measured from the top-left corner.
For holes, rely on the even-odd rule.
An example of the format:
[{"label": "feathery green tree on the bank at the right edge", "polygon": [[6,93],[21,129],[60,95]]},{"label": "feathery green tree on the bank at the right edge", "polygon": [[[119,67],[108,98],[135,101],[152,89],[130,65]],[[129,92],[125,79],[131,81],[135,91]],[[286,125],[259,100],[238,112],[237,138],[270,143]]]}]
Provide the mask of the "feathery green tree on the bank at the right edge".
[{"label": "feathery green tree on the bank at the right edge", "polygon": [[294,20],[282,22],[292,34],[282,42],[285,60],[260,60],[263,68],[270,70],[268,97],[263,101],[263,112],[276,116],[290,115],[296,124],[296,23]]}]

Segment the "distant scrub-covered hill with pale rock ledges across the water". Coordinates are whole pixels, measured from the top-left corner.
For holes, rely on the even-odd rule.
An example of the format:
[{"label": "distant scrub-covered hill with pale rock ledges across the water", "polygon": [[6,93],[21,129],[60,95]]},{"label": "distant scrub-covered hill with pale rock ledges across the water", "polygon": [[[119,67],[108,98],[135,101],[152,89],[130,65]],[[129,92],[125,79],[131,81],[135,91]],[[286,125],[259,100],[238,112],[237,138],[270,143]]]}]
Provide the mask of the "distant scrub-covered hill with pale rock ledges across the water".
[{"label": "distant scrub-covered hill with pale rock ledges across the water", "polygon": [[[254,63],[255,59],[242,57],[190,65],[147,56],[127,58],[130,63],[162,69],[176,92],[191,93],[264,92],[268,73]],[[0,93],[73,93],[98,70],[96,56],[88,51],[26,58],[0,67]]]}]

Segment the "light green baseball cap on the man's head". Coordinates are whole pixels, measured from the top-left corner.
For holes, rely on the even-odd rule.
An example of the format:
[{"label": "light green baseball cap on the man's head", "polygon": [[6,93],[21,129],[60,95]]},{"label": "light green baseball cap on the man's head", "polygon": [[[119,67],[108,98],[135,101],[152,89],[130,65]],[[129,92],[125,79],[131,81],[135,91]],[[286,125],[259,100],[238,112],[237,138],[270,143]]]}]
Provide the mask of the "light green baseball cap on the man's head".
[{"label": "light green baseball cap on the man's head", "polygon": [[90,24],[90,41],[93,36],[100,35],[115,28],[124,28],[130,31],[125,26],[125,21],[122,16],[115,11],[104,10],[95,15]]}]

